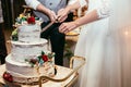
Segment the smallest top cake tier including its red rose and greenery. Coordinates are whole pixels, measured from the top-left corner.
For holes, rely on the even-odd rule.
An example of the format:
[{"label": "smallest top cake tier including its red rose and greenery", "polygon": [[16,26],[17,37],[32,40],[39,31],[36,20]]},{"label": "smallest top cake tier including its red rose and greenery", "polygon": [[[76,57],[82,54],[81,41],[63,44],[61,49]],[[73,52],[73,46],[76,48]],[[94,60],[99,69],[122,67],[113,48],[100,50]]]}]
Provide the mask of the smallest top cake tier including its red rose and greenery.
[{"label": "smallest top cake tier including its red rose and greenery", "polygon": [[41,22],[38,17],[20,14],[14,25],[16,28],[12,32],[12,40],[22,42],[39,41]]}]

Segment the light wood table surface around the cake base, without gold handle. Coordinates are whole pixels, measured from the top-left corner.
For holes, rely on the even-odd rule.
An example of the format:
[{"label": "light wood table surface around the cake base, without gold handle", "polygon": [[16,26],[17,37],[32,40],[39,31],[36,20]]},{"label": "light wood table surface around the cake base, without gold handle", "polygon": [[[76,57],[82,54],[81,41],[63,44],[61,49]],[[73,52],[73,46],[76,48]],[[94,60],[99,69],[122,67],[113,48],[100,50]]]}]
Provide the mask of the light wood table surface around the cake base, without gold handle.
[{"label": "light wood table surface around the cake base, without gold handle", "polygon": [[[57,74],[53,78],[56,79],[60,79],[60,78],[63,78],[66,77],[69,73],[72,72],[71,69],[68,69],[68,67],[63,67],[63,66],[59,66],[57,65]],[[8,85],[9,87],[38,87],[38,85],[20,85],[20,84],[14,84],[14,83],[5,83],[4,79],[2,78],[2,74],[4,73],[5,71],[5,65],[0,65],[0,83],[4,84],[4,85]],[[44,83],[41,85],[41,87],[70,87],[71,85],[74,84],[74,82],[76,82],[78,79],[78,74],[74,73],[73,75],[71,75],[67,80],[64,82],[59,82],[59,83],[56,83],[56,82],[51,82],[51,80],[48,80],[46,83]],[[0,85],[1,87],[2,85]],[[3,86],[3,87],[7,87],[7,86]]]}]

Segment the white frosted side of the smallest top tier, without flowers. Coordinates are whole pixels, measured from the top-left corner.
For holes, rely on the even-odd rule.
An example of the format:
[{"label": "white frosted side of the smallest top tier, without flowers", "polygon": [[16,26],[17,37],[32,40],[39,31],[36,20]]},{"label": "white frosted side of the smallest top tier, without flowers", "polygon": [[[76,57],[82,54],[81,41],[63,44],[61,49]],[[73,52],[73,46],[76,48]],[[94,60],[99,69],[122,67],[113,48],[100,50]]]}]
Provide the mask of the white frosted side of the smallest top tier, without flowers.
[{"label": "white frosted side of the smallest top tier, without flowers", "polygon": [[39,41],[40,26],[38,24],[25,24],[19,26],[19,41],[33,42]]}]

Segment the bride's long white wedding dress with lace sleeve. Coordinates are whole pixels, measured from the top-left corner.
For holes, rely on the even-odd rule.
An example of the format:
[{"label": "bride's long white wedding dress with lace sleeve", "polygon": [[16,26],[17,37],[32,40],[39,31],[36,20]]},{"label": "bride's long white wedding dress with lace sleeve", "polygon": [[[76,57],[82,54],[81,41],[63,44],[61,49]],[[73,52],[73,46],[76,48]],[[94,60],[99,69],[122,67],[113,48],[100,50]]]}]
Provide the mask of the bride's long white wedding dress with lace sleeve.
[{"label": "bride's long white wedding dress with lace sleeve", "polygon": [[[82,26],[74,54],[84,57],[86,63],[75,87],[131,87],[130,3],[131,0],[88,1],[86,13],[96,9],[102,20]],[[110,12],[106,12],[109,7]]]}]

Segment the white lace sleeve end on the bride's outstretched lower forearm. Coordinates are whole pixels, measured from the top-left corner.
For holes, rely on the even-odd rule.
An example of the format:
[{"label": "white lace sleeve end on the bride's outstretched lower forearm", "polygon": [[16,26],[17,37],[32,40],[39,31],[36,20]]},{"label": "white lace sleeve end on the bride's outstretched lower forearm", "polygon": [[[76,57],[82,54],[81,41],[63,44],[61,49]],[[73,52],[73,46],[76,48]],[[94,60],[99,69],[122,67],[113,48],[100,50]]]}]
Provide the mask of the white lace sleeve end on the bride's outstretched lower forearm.
[{"label": "white lace sleeve end on the bride's outstretched lower forearm", "polygon": [[110,14],[110,0],[102,0],[102,7],[97,8],[98,18],[104,18]]}]

